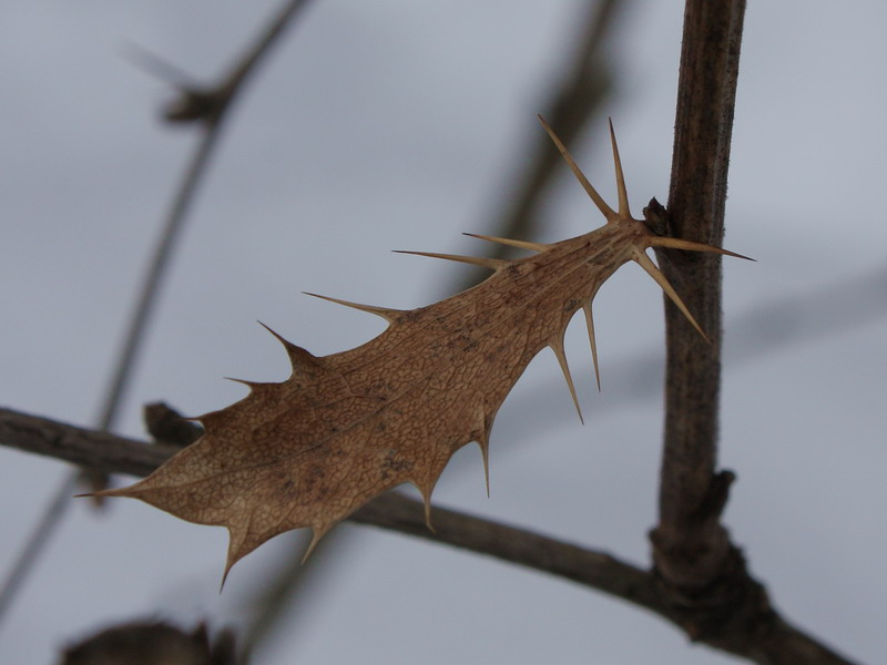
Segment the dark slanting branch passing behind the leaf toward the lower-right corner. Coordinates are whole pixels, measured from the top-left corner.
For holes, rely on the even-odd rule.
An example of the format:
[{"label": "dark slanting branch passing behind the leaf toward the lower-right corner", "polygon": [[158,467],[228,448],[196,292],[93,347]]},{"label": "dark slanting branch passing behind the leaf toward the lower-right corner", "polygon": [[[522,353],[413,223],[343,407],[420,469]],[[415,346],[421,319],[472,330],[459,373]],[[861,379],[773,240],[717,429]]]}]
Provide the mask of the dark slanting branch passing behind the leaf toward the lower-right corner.
[{"label": "dark slanting branch passing behind the leaf toward the lower-right corner", "polygon": [[[90,466],[102,472],[133,475],[147,475],[179,450],[9,409],[0,409],[0,443]],[[786,623],[768,605],[756,607],[743,603],[740,605],[743,613],[731,613],[726,617],[727,631],[724,630],[724,617],[717,613],[713,614],[710,624],[700,623],[696,608],[676,605],[655,572],[644,571],[605,552],[440,508],[431,512],[432,532],[426,526],[422,503],[396,492],[377,497],[349,519],[572,580],[644,607],[675,624],[694,641],[762,664],[849,664]],[[737,570],[744,571],[742,566]],[[723,607],[715,610],[722,611]],[[750,616],[752,611],[753,616]],[[766,613],[766,624],[757,621],[762,611]],[[707,628],[712,626],[718,630],[710,632]]]}]

